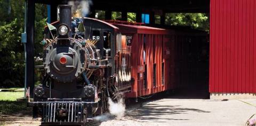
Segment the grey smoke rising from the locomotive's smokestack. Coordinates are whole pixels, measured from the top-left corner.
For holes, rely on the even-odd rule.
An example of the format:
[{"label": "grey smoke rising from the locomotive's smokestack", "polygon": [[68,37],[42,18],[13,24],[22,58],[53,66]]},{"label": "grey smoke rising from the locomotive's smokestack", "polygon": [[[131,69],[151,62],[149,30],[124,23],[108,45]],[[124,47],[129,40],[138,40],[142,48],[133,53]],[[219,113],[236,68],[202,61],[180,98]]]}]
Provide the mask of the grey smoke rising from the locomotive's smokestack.
[{"label": "grey smoke rising from the locomotive's smokestack", "polygon": [[72,11],[80,11],[82,16],[86,17],[90,14],[90,6],[92,5],[91,0],[82,0],[82,1],[69,1],[69,5],[72,5]]}]

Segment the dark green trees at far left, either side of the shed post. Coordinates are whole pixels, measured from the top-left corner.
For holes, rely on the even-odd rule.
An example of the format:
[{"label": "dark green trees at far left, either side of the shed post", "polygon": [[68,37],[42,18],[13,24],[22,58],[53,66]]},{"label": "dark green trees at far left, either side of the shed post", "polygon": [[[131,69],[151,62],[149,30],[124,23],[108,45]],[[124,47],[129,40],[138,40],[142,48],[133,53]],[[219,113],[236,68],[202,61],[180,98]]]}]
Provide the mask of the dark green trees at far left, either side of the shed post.
[{"label": "dark green trees at far left, either side of the shed post", "polygon": [[[24,47],[21,44],[21,33],[24,28],[25,1],[0,0],[0,87],[24,85]],[[35,15],[35,56],[42,55],[46,6],[36,5]]]}]

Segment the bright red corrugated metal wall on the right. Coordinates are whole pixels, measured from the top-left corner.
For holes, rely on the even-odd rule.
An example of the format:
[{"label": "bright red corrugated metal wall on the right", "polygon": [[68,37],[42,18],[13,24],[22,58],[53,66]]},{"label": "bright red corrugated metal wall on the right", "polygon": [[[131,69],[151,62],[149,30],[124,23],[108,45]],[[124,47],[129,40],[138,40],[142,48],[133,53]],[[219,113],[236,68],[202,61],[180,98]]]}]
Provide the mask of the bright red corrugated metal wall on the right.
[{"label": "bright red corrugated metal wall on the right", "polygon": [[255,23],[255,0],[211,0],[210,93],[256,93]]}]

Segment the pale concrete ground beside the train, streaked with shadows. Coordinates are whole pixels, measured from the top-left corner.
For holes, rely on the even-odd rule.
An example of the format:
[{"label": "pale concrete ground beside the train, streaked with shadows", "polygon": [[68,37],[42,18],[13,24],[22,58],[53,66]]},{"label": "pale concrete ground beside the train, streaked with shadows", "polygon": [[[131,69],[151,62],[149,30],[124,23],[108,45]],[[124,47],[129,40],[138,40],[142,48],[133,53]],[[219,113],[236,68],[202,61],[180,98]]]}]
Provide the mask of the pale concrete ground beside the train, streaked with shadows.
[{"label": "pale concrete ground beside the train, streaked with shadows", "polygon": [[[256,105],[256,100],[242,101]],[[256,113],[256,107],[242,101],[163,98],[143,103],[127,110],[124,118],[100,125],[244,125]]]}]

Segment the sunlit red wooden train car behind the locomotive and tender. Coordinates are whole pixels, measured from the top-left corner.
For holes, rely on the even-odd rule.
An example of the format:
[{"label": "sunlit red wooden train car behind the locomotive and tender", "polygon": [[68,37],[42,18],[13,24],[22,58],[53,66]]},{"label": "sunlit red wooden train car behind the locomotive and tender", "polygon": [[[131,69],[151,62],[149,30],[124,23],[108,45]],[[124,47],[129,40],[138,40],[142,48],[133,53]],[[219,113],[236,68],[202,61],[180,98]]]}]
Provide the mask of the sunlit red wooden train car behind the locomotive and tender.
[{"label": "sunlit red wooden train car behind the locomotive and tender", "polygon": [[174,61],[171,59],[171,30],[148,26],[114,24],[126,35],[132,54],[132,91],[127,97],[138,97],[173,88]]}]

